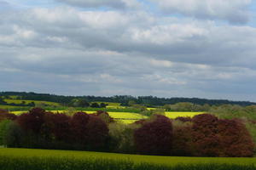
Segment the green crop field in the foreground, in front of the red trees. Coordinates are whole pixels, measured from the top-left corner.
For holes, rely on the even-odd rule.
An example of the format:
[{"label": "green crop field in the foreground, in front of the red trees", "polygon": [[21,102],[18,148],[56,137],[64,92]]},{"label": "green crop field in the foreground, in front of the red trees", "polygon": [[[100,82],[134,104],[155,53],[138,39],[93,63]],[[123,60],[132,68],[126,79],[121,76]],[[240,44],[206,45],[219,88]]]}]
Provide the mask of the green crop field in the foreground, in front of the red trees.
[{"label": "green crop field in the foreground, in front of the red trees", "polygon": [[[86,164],[87,161],[90,161]],[[0,148],[0,169],[4,166],[12,169],[28,169],[28,167],[55,166],[58,169],[72,169],[71,167],[84,164],[88,169],[100,169],[100,165],[106,164],[102,169],[172,169],[172,167],[186,167],[173,169],[215,169],[219,167],[234,167],[234,168],[219,168],[218,169],[234,169],[236,166],[247,166],[247,170],[253,170],[256,165],[256,158],[211,158],[211,157],[174,157],[174,156],[139,156],[125,155],[114,153],[102,153],[91,151],[69,151],[69,150],[33,150],[33,149],[6,149]],[[130,168],[129,165],[131,166]],[[196,165],[200,165],[195,168]],[[220,166],[222,165],[222,166]],[[106,167],[110,166],[110,167]],[[116,168],[118,166],[119,168]],[[128,167],[127,167],[128,166]],[[136,168],[136,167],[140,168]],[[156,166],[152,168],[152,166]],[[159,166],[157,168],[157,166]],[[164,166],[164,167],[160,167]],[[189,167],[190,168],[189,168]],[[202,167],[208,168],[202,168]],[[213,167],[212,167],[213,166]],[[41,168],[42,168],[41,167]],[[94,167],[94,168],[90,168]],[[98,167],[98,168],[96,168]],[[111,168],[112,167],[112,168]],[[143,167],[143,168],[142,168]],[[168,168],[167,168],[168,167]],[[212,168],[209,168],[212,167]],[[87,169],[86,168],[86,169]],[[2,168],[3,169],[3,168]],[[1,170],[2,170],[1,169]],[[84,168],[83,168],[84,169]],[[217,168],[216,168],[217,169]],[[237,168],[236,169],[242,169]]]}]

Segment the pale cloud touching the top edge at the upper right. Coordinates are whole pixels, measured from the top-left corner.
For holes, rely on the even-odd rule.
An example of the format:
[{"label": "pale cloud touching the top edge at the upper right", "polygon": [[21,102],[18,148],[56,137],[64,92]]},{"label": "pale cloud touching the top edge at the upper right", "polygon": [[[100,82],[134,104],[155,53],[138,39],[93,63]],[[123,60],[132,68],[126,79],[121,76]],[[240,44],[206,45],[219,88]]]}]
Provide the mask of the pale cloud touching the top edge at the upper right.
[{"label": "pale cloud touching the top edge at the upper right", "polygon": [[244,24],[249,20],[252,0],[150,0],[166,14],[183,14],[205,20],[227,20]]}]

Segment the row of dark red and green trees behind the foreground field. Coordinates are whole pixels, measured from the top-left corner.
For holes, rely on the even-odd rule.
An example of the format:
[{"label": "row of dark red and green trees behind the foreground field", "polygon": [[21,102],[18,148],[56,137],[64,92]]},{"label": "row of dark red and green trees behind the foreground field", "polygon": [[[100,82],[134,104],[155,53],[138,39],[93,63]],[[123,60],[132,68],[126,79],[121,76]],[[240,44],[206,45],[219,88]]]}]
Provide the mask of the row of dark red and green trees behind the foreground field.
[{"label": "row of dark red and green trees behind the foreground field", "polygon": [[54,114],[41,108],[15,116],[0,111],[0,145],[16,148],[96,150],[160,156],[254,155],[255,144],[241,119],[211,114],[169,119],[153,115],[131,124],[108,112]]}]

